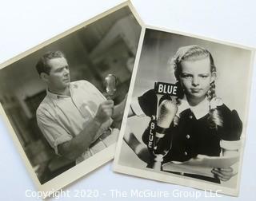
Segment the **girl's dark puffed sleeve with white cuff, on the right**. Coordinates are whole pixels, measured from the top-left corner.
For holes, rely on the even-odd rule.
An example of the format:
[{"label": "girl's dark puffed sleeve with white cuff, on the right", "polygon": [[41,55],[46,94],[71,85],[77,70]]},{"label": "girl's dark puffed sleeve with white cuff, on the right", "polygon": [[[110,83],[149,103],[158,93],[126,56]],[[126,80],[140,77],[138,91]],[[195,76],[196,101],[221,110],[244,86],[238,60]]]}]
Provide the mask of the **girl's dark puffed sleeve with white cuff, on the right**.
[{"label": "girl's dark puffed sleeve with white cuff, on the right", "polygon": [[236,110],[230,110],[225,104],[221,106],[223,128],[221,132],[220,146],[226,150],[240,148],[240,136],[242,134],[242,121]]}]

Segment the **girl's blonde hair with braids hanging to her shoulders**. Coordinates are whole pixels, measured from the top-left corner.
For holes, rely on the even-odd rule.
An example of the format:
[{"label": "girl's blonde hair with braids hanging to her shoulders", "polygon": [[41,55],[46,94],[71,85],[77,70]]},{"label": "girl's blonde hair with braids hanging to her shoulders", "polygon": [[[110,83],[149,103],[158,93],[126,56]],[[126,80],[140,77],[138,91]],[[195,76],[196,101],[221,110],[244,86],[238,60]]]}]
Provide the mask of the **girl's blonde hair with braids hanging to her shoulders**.
[{"label": "girl's blonde hair with braids hanging to her shoulders", "polygon": [[[172,57],[170,64],[174,68],[174,76],[177,80],[178,88],[182,89],[182,85],[180,82],[180,76],[182,73],[182,61],[197,61],[199,59],[203,59],[209,57],[210,59],[210,73],[216,74],[216,66],[214,65],[214,58],[212,57],[211,53],[198,45],[189,45],[180,47],[177,53]],[[179,90],[178,100],[182,99],[184,96],[183,90]],[[210,89],[207,92],[208,101],[212,101],[216,98],[215,93],[215,83],[214,81],[210,83]],[[178,101],[179,103],[179,101]],[[209,108],[209,124],[210,128],[217,128],[218,126],[222,126],[222,116],[219,114],[217,108]]]}]

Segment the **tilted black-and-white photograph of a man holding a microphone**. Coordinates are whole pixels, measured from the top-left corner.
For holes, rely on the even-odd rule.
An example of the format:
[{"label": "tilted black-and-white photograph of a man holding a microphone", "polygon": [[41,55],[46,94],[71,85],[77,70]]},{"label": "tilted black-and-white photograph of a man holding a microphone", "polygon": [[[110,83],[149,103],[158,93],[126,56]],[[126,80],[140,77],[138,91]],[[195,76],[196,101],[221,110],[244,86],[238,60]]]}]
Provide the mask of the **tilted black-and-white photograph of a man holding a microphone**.
[{"label": "tilted black-and-white photograph of a man holding a microphone", "polygon": [[113,159],[141,29],[125,2],[1,66],[1,115],[38,190]]}]

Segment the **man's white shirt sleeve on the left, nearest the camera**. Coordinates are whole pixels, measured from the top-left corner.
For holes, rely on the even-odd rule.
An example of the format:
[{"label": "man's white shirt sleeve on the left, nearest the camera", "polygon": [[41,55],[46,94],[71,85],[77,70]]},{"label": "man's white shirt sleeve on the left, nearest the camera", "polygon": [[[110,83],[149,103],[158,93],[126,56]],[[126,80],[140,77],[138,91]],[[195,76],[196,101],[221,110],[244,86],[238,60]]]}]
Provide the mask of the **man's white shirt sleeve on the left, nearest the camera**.
[{"label": "man's white shirt sleeve on the left, nearest the camera", "polygon": [[42,112],[37,112],[37,120],[38,127],[50,144],[50,147],[54,148],[56,154],[58,154],[58,144],[72,140],[73,137],[52,117],[46,116]]}]

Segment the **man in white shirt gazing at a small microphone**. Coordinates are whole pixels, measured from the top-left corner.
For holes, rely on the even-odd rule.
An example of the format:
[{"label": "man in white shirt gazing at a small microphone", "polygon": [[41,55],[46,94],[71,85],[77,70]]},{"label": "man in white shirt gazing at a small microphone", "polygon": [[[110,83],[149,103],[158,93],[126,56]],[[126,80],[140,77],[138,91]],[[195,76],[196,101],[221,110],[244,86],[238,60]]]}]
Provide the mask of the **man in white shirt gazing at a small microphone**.
[{"label": "man in white shirt gazing at a small microphone", "polygon": [[118,132],[110,125],[122,119],[126,100],[114,106],[90,82],[70,82],[69,65],[60,51],[43,55],[36,69],[47,85],[37,110],[38,126],[57,154],[78,164],[114,144]]}]

